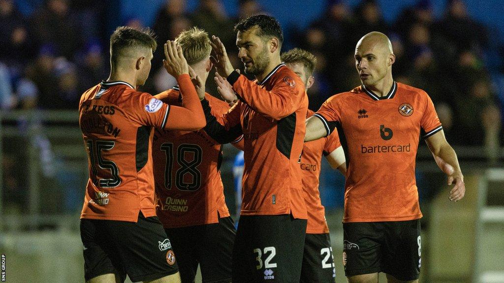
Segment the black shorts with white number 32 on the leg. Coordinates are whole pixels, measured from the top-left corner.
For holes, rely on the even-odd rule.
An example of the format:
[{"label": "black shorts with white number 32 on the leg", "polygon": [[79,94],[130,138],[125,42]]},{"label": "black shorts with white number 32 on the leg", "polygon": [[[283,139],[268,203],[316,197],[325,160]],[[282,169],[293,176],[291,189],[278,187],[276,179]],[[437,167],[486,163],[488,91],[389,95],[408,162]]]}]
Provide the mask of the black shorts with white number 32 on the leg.
[{"label": "black shorts with white number 32 on the leg", "polygon": [[306,219],[241,216],[233,247],[233,282],[299,283]]}]

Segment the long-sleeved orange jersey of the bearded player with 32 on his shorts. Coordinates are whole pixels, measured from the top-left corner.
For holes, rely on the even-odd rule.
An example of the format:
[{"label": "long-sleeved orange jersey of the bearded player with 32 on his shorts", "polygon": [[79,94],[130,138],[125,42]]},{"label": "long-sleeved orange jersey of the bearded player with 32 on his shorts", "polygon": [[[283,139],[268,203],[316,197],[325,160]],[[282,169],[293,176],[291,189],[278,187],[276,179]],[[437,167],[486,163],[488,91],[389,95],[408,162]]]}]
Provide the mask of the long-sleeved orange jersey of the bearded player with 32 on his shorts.
[{"label": "long-sleeved orange jersey of the bearded player with 32 on his shorts", "polygon": [[[299,168],[308,109],[303,82],[285,64],[261,83],[236,72],[227,80],[240,101],[217,117],[210,115],[203,101],[205,130],[226,141],[243,133],[241,215],[292,213],[306,219]],[[234,133],[226,136],[230,131]]]}]

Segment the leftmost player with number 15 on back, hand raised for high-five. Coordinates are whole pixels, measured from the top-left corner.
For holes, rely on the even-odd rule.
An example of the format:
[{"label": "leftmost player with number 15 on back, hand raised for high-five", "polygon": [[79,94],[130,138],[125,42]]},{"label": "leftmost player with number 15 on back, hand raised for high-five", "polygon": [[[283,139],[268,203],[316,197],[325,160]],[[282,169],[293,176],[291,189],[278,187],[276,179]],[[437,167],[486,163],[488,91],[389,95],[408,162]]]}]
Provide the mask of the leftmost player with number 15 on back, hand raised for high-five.
[{"label": "leftmost player with number 15 on back, hand raised for high-five", "polygon": [[152,127],[198,130],[205,117],[180,47],[164,45],[164,66],[183,103],[172,106],[136,90],[147,80],[156,41],[150,30],[119,27],[110,37],[110,77],[87,90],[79,125],[89,162],[81,214],[89,283],[180,282],[169,239],[156,217]]}]

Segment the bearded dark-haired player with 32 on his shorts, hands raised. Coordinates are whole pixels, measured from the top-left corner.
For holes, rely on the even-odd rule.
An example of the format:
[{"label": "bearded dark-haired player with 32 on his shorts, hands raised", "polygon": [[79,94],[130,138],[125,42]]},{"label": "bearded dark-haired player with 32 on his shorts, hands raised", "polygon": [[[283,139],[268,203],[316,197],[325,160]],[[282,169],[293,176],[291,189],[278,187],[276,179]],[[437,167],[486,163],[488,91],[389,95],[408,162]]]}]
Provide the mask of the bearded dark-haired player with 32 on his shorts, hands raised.
[{"label": "bearded dark-haired player with 32 on his shorts, hands raised", "polygon": [[[306,207],[299,158],[308,99],[303,82],[280,60],[283,33],[277,20],[252,16],[235,26],[238,56],[249,81],[238,74],[224,45],[213,37],[217,84],[222,77],[239,101],[223,116],[203,109],[205,131],[216,140],[244,140],[240,222],[233,248],[233,282],[299,282]],[[220,76],[222,77],[220,77]],[[232,97],[224,97],[230,101]]]}]

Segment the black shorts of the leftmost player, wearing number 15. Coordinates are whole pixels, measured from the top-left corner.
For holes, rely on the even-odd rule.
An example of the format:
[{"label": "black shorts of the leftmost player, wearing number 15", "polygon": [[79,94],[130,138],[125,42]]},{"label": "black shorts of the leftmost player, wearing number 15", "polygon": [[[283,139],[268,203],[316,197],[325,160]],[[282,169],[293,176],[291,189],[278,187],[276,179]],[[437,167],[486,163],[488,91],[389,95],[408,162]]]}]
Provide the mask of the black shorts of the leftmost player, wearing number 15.
[{"label": "black shorts of the leftmost player, wearing number 15", "polygon": [[170,240],[157,217],[138,222],[81,219],[86,281],[99,275],[126,274],[133,282],[154,280],[178,271]]}]

